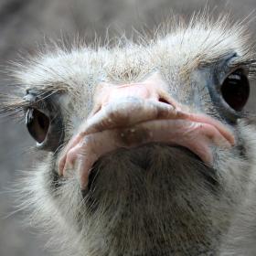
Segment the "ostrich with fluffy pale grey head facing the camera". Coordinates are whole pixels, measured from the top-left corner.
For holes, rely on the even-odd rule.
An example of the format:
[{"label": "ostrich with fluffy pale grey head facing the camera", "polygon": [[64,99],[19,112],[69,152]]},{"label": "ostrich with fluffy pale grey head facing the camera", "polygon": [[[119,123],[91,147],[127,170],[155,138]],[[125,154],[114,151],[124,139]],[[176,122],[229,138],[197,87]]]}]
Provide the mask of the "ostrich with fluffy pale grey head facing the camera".
[{"label": "ostrich with fluffy pale grey head facing the camera", "polygon": [[247,255],[230,230],[255,177],[250,36],[225,15],[159,31],[12,69],[1,112],[22,116],[41,155],[19,207],[56,255]]}]

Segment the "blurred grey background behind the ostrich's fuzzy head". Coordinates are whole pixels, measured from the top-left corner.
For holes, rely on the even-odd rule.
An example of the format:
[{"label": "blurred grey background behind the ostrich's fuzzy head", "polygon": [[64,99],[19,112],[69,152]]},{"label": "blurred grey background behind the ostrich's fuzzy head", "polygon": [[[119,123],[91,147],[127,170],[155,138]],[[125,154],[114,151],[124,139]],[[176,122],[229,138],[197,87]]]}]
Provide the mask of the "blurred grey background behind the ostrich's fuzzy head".
[{"label": "blurred grey background behind the ostrich's fuzzy head", "polygon": [[[0,0],[0,67],[17,58],[21,52],[32,53],[45,37],[57,40],[61,35],[70,38],[80,34],[90,42],[95,32],[104,37],[110,27],[110,36],[132,27],[141,30],[144,25],[152,28],[169,13],[185,18],[206,5],[205,0]],[[215,14],[223,8],[234,18],[243,18],[256,8],[255,0],[211,0],[209,9]],[[251,14],[251,17],[255,16]],[[256,21],[249,27],[252,39]],[[1,85],[10,82],[0,75]],[[255,112],[255,89],[252,87],[248,108]],[[6,193],[16,180],[18,170],[29,166],[24,152],[33,145],[23,123],[0,118],[0,256],[47,256],[44,238],[37,237],[37,230],[22,226],[21,213],[14,212],[14,198]]]}]

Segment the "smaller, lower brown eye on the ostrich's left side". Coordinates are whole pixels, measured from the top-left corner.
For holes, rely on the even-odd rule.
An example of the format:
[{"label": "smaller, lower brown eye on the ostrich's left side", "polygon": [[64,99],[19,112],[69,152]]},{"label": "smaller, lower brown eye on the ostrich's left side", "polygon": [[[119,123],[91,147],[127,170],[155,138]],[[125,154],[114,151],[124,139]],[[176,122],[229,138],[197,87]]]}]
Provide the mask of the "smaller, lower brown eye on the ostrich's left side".
[{"label": "smaller, lower brown eye on the ostrich's left side", "polygon": [[30,135],[41,144],[47,137],[49,118],[37,109],[28,109],[26,114],[27,130]]}]

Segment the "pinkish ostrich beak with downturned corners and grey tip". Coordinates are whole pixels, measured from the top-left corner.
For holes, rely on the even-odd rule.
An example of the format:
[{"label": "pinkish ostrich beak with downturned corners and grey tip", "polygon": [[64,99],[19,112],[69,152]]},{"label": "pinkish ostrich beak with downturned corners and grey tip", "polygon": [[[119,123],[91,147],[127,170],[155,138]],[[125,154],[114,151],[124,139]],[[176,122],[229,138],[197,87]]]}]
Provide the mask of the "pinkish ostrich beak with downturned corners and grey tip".
[{"label": "pinkish ostrich beak with downturned corners and grey tip", "polygon": [[60,176],[79,160],[82,188],[88,184],[92,165],[121,147],[157,142],[181,145],[211,165],[212,145],[229,148],[235,144],[233,133],[219,121],[184,111],[186,107],[165,92],[165,81],[158,74],[141,83],[102,84],[100,88],[94,111],[59,159]]}]

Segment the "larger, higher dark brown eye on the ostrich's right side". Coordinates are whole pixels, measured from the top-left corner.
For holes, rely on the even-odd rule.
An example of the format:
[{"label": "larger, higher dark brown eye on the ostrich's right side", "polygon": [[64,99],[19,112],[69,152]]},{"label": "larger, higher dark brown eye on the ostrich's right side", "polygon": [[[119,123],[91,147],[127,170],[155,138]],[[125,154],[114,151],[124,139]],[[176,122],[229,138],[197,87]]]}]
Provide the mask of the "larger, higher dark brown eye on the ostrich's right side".
[{"label": "larger, higher dark brown eye on the ostrich's right side", "polygon": [[231,73],[220,88],[223,99],[229,106],[240,112],[248,101],[250,84],[247,76],[241,69]]}]

